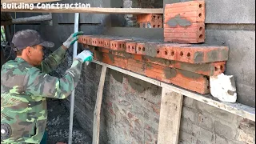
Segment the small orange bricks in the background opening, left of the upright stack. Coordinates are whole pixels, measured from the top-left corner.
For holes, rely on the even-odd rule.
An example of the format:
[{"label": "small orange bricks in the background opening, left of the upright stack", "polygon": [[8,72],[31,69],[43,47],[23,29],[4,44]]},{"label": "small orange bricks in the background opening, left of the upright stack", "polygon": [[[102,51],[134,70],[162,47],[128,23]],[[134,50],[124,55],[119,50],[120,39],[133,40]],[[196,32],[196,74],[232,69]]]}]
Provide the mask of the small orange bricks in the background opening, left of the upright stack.
[{"label": "small orange bricks in the background opening, left of the upright stack", "polygon": [[140,28],[162,28],[162,14],[139,14],[137,22]]}]

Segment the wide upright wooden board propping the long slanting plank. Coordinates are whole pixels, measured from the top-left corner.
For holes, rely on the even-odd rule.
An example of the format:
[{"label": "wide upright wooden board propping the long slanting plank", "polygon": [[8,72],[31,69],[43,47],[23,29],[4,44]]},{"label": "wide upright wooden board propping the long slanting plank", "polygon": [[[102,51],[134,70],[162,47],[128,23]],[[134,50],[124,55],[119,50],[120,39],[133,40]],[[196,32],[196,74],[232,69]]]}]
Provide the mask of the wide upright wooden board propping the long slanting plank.
[{"label": "wide upright wooden board propping the long slanting plank", "polygon": [[178,134],[182,115],[182,101],[182,94],[162,88],[158,144],[178,144]]}]

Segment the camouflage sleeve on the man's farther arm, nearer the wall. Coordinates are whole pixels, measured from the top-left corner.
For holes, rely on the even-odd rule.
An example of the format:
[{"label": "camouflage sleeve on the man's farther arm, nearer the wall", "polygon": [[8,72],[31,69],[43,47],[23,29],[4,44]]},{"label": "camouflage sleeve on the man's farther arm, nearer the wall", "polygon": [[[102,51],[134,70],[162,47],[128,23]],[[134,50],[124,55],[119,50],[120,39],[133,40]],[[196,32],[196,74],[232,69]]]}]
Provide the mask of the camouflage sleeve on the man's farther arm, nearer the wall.
[{"label": "camouflage sleeve on the man's farther arm, nearer the wall", "polygon": [[42,70],[43,73],[49,74],[65,60],[66,55],[66,50],[64,50],[62,46],[60,46],[57,50],[55,50],[52,54],[50,54],[42,61],[41,65],[38,66],[38,69]]}]

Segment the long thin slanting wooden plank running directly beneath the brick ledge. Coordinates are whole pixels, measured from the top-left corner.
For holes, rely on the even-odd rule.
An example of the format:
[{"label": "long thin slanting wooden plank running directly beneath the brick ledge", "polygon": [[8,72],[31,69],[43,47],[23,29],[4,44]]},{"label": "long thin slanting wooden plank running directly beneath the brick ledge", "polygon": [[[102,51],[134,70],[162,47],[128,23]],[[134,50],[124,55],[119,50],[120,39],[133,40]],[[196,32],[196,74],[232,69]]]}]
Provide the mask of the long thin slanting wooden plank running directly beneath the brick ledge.
[{"label": "long thin slanting wooden plank running directly beneath the brick ledge", "polygon": [[167,84],[165,82],[160,82],[158,80],[155,80],[153,78],[148,78],[141,74],[136,74],[129,70],[123,70],[116,66],[110,66],[103,62],[98,62],[98,61],[93,61],[93,62],[98,63],[99,65],[102,65],[102,66],[107,66],[108,68],[110,68],[112,70],[117,70],[123,74],[130,75],[134,78],[141,79],[142,81],[150,82],[156,86],[161,86],[166,89],[173,90],[174,92],[176,92],[178,94],[182,94],[186,97],[193,98],[194,100],[197,100],[199,102],[206,103],[210,106],[217,107],[218,109],[225,110],[226,112],[229,112],[231,114],[236,114],[242,118],[247,118],[247,119],[250,119],[251,121],[255,122],[255,108],[253,108],[253,107],[245,106],[240,103],[220,102],[218,100],[215,100],[213,98],[213,96],[211,96],[210,94],[206,94],[206,95],[197,94],[197,93],[191,92],[189,90],[182,89],[181,87],[178,87],[178,86],[173,86],[173,85]]}]

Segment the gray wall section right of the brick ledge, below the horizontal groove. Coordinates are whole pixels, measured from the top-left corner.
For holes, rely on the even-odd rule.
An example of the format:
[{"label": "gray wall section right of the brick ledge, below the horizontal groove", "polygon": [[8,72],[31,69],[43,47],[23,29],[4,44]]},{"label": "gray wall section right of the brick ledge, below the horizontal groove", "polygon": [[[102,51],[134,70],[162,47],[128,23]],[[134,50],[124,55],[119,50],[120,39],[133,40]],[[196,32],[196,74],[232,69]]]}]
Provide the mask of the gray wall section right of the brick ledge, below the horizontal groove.
[{"label": "gray wall section right of the brick ledge, below the horizontal groove", "polygon": [[206,43],[229,46],[226,73],[234,75],[238,102],[255,106],[255,31],[206,30]]}]

